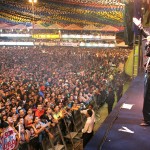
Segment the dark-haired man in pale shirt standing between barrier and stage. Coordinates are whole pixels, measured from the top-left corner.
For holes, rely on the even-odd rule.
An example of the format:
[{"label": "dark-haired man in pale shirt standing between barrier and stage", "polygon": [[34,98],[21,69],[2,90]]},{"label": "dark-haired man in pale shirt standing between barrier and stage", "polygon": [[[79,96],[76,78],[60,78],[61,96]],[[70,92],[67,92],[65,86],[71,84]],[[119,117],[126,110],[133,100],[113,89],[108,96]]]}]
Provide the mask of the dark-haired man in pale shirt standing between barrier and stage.
[{"label": "dark-haired man in pale shirt standing between barrier and stage", "polygon": [[92,118],[92,110],[88,109],[86,113],[87,121],[82,129],[83,147],[90,141],[93,136],[94,119]]}]

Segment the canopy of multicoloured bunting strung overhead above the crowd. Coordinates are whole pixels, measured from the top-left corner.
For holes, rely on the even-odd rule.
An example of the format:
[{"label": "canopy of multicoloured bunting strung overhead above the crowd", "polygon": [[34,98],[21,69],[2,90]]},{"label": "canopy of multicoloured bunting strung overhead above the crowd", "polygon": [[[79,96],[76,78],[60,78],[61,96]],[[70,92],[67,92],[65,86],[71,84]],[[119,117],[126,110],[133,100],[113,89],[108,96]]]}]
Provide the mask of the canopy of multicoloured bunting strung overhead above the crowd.
[{"label": "canopy of multicoloured bunting strung overhead above the crowd", "polygon": [[[21,0],[0,3],[0,21],[24,25],[33,21],[32,5],[29,3]],[[41,0],[35,4],[34,23],[48,29],[62,29],[60,24],[76,24],[79,28],[85,27],[84,30],[97,30],[97,27],[105,25],[124,26],[126,3],[129,0]],[[42,26],[36,28],[45,29]]]}]

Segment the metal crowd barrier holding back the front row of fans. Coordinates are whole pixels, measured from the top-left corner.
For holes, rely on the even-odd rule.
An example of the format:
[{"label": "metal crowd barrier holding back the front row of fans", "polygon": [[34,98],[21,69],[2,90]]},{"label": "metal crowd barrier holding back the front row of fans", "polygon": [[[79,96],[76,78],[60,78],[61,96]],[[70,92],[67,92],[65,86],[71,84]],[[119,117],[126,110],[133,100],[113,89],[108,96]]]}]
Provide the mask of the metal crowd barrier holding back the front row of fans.
[{"label": "metal crowd barrier holding back the front row of fans", "polygon": [[[97,111],[98,106],[94,98],[88,104],[92,104],[94,111]],[[61,118],[55,126],[50,126],[48,130],[53,137],[45,131],[41,132],[38,137],[31,138],[28,143],[19,144],[18,150],[37,150],[37,147],[42,150],[75,150],[78,147],[81,148],[81,130],[85,122],[86,116],[81,114],[80,109],[73,110],[69,116]]]}]

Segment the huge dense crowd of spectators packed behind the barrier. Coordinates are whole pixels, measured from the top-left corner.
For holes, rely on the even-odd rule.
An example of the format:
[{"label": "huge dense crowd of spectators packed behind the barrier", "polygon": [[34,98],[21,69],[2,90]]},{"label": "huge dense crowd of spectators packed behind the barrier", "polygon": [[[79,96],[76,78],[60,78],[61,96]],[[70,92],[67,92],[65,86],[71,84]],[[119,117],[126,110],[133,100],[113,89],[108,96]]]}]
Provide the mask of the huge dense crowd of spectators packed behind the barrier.
[{"label": "huge dense crowd of spectators packed behind the barrier", "polygon": [[53,139],[49,129],[74,110],[95,101],[98,107],[107,102],[110,113],[114,93],[118,100],[122,96],[120,66],[129,53],[121,48],[1,47],[0,149],[7,143],[2,140],[6,127],[16,134],[16,149],[34,138],[30,145],[37,150],[43,135]]}]

